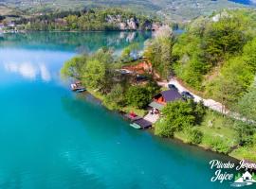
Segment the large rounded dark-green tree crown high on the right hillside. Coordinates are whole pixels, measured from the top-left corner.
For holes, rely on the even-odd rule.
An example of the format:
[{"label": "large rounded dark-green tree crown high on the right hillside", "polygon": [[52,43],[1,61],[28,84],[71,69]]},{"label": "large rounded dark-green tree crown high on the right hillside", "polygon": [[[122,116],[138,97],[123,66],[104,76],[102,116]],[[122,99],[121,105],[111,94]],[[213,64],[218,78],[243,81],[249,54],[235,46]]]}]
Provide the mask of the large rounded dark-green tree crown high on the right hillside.
[{"label": "large rounded dark-green tree crown high on the right hillside", "polygon": [[207,26],[202,43],[204,59],[214,65],[224,60],[226,55],[240,52],[247,43],[243,26],[243,20],[236,16],[224,17]]}]

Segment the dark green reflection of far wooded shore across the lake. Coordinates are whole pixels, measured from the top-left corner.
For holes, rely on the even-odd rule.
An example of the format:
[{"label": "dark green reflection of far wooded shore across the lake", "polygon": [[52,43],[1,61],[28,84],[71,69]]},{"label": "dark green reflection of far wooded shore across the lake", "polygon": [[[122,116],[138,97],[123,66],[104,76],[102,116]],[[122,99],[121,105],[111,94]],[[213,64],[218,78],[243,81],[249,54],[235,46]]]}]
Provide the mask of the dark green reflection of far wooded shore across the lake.
[{"label": "dark green reflection of far wooded shore across the lake", "polygon": [[151,36],[151,32],[117,31],[4,34],[0,38],[0,47],[94,52],[102,46],[119,50],[132,42],[143,44]]}]

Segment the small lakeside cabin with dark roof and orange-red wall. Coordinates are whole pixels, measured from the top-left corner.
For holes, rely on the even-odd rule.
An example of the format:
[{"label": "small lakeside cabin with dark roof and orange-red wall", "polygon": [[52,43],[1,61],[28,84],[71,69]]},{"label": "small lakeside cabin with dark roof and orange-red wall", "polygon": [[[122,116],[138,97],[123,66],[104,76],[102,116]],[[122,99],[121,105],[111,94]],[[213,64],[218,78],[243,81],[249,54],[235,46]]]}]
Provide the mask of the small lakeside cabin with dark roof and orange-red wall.
[{"label": "small lakeside cabin with dark roof and orange-red wall", "polygon": [[161,111],[168,102],[173,102],[175,100],[181,99],[182,95],[179,94],[177,90],[171,89],[155,95],[153,102],[150,103],[149,106]]}]

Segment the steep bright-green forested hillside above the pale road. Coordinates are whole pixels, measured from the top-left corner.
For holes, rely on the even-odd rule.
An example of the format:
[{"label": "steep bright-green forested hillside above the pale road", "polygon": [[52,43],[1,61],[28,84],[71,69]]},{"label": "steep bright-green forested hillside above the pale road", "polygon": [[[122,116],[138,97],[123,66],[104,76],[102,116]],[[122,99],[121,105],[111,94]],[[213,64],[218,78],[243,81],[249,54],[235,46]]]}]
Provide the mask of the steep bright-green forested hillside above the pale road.
[{"label": "steep bright-green forested hillside above the pale road", "polygon": [[174,73],[193,89],[234,106],[255,77],[255,28],[251,10],[196,19],[174,44]]}]

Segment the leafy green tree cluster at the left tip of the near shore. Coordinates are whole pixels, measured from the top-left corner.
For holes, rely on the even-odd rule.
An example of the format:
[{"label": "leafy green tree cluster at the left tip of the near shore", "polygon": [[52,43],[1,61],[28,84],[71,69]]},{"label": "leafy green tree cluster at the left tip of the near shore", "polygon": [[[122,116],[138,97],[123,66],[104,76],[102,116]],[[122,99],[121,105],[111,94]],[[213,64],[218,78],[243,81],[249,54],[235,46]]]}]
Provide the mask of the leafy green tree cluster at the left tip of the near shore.
[{"label": "leafy green tree cluster at the left tip of the near shore", "polygon": [[106,94],[113,86],[113,52],[102,48],[92,55],[82,55],[64,63],[61,74],[81,80],[86,87]]}]

